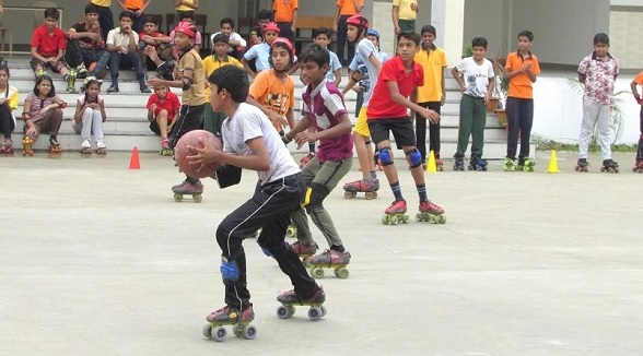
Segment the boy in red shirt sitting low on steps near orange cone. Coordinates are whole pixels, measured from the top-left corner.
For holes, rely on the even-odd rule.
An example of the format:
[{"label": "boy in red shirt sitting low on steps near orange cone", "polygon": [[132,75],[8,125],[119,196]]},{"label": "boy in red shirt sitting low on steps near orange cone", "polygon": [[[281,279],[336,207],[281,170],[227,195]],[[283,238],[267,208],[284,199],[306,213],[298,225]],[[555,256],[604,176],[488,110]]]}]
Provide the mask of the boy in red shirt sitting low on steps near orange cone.
[{"label": "boy in red shirt sitting low on steps near orange cone", "polygon": [[174,126],[174,118],[177,117],[180,109],[178,96],[169,91],[165,85],[154,85],[154,94],[148,99],[148,120],[150,120],[150,130],[161,135],[161,154],[164,156],[172,155],[167,132]]}]

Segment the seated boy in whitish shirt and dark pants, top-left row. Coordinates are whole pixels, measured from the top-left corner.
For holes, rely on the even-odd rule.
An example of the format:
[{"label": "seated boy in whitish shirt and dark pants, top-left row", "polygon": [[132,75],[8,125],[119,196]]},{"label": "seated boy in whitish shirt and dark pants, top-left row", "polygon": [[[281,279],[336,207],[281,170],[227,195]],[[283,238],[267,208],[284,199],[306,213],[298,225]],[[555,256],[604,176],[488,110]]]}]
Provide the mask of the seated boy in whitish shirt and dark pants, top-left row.
[{"label": "seated boy in whitish shirt and dark pants, top-left row", "polygon": [[145,72],[143,59],[138,52],[139,34],[131,28],[133,13],[124,11],[118,16],[120,25],[107,34],[107,50],[109,51],[109,73],[112,74],[112,86],[107,93],[118,93],[118,71],[133,67],[139,81],[141,93],[151,93],[145,85]]}]

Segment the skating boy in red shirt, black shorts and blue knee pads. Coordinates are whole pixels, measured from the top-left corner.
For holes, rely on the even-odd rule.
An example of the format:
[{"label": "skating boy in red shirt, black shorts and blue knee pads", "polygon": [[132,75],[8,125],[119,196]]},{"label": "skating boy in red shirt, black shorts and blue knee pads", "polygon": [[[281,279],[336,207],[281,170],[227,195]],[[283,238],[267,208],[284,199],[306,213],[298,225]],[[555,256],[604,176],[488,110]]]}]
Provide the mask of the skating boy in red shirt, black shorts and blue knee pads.
[{"label": "skating boy in red shirt, black shorts and blue knee pads", "polygon": [[444,210],[426,198],[422,155],[416,147],[416,134],[411,121],[413,116],[409,117],[407,112],[407,109],[411,109],[431,122],[440,120],[437,112],[417,104],[418,86],[422,86],[424,82],[422,67],[413,61],[419,46],[420,35],[418,34],[402,32],[397,36],[398,56],[386,61],[382,67],[382,73],[366,109],[371,138],[379,149],[379,161],[395,195],[393,204],[384,211],[386,214],[384,224],[395,225],[400,219],[408,222],[408,215],[404,215],[407,212],[407,201],[402,198],[397,169],[393,162],[389,132],[393,133],[396,144],[402,147],[411,167],[411,175],[420,197],[418,219],[432,223],[445,221],[442,216]]}]

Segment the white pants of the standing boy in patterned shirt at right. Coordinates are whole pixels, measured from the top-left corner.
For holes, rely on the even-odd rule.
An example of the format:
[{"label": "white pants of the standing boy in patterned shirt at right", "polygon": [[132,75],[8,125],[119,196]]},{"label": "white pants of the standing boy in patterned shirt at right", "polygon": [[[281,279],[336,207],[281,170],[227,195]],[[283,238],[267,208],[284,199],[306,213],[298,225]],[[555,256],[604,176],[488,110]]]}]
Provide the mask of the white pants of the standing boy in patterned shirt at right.
[{"label": "white pants of the standing boy in patterned shirt at right", "polygon": [[[611,159],[609,120],[611,109],[606,104],[583,103],[583,123],[581,124],[581,139],[578,141],[578,158],[587,158],[587,149],[592,141],[594,127],[597,127],[598,145],[603,159]],[[598,121],[598,123],[596,122]]]}]

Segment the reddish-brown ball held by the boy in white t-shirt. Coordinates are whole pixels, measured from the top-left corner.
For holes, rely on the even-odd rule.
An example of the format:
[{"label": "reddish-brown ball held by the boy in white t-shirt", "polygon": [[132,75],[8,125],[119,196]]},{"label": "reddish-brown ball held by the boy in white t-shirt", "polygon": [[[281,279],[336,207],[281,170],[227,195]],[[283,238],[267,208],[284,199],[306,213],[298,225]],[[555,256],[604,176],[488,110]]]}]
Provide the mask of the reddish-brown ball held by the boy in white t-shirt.
[{"label": "reddish-brown ball held by the boy in white t-shirt", "polygon": [[217,169],[221,166],[221,163],[213,162],[206,166],[203,166],[200,170],[197,171],[199,165],[191,164],[186,156],[194,155],[188,150],[188,146],[199,147],[202,149],[203,144],[199,142],[199,139],[202,139],[202,142],[208,146],[214,146],[217,150],[221,150],[221,141],[210,131],[206,130],[192,130],[186,132],[176,143],[174,147],[174,159],[178,165],[180,171],[186,174],[189,177],[198,177],[198,178],[207,178],[211,177]]}]

